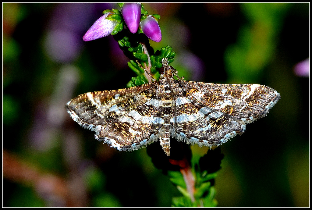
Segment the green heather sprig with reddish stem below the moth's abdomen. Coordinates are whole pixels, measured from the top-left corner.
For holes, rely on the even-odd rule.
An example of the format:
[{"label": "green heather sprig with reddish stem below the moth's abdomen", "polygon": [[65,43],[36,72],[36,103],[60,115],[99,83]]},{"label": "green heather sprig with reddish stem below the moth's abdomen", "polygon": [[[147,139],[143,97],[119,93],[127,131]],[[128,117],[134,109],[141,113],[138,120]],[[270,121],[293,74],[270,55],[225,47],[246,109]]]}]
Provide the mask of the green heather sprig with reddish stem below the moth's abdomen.
[{"label": "green heather sprig with reddish stem below the moth's abdomen", "polygon": [[[170,156],[166,156],[159,144],[151,144],[147,147],[147,153],[152,158],[154,166],[166,175],[171,183],[176,186],[182,194],[181,197],[172,199],[173,207],[216,207],[217,201],[214,198],[215,188],[214,179],[217,177],[217,171],[221,168],[221,160],[224,155],[221,154],[220,147],[209,149],[207,154],[201,157],[198,163],[192,164],[192,152],[188,144],[178,142],[173,139],[170,142]],[[179,163],[179,164],[174,164]],[[182,163],[182,165],[181,165]],[[190,195],[182,171],[191,171],[193,180],[193,195]],[[184,172],[185,173],[185,172]],[[193,197],[195,201],[192,201]]]}]

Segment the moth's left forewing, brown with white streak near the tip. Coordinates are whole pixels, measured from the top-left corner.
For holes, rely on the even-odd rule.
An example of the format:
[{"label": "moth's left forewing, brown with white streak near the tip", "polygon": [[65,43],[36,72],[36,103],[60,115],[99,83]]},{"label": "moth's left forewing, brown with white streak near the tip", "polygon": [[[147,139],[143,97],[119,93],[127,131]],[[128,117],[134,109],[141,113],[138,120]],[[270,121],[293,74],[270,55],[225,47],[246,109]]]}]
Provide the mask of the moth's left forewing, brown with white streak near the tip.
[{"label": "moth's left forewing, brown with white streak near the tip", "polygon": [[128,113],[151,99],[150,85],[80,94],[66,105],[71,118],[85,129],[94,130]]}]

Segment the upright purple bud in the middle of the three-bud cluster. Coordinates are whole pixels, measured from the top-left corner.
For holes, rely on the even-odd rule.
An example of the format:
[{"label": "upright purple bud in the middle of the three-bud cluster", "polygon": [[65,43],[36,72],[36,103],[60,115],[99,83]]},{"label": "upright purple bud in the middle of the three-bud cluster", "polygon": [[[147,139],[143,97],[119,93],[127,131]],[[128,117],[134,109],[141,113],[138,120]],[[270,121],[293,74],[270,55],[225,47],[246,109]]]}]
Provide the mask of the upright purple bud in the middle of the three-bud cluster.
[{"label": "upright purple bud in the middle of the three-bud cluster", "polygon": [[124,3],[121,8],[122,17],[131,33],[136,33],[141,18],[141,3]]}]

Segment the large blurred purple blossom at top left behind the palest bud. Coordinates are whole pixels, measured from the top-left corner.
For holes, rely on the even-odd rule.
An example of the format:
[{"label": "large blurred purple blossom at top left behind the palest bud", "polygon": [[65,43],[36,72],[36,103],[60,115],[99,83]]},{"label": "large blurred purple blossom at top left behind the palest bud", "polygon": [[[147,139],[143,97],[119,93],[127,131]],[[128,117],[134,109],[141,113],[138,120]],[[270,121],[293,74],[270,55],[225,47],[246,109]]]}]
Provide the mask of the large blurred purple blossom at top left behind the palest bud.
[{"label": "large blurred purple blossom at top left behind the palest bud", "polygon": [[[80,55],[81,36],[90,20],[110,3],[59,3],[51,14],[44,39],[44,50],[55,62],[71,62]],[[92,20],[91,20],[92,21]]]}]

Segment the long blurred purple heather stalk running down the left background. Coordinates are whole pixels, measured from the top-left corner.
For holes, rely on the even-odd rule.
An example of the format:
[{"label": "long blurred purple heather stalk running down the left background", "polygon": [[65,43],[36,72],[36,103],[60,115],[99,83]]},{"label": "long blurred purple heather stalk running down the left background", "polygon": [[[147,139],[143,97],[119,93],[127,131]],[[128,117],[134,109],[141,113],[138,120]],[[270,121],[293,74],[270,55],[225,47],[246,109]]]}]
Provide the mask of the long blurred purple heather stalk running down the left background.
[{"label": "long blurred purple heather stalk running down the left background", "polygon": [[[76,84],[80,81],[80,69],[74,61],[79,59],[84,42],[81,40],[85,29],[95,20],[95,16],[110,3],[58,3],[51,13],[51,19],[44,33],[43,49],[51,61],[60,64],[53,69],[57,77],[51,87],[51,95],[42,96],[34,108],[35,115],[30,128],[29,147],[32,152],[47,152],[59,145],[64,150],[63,163],[69,176],[65,186],[67,194],[73,198],[72,204],[67,203],[66,196],[58,196],[59,183],[53,178],[38,179],[35,183],[36,192],[46,201],[48,207],[87,206],[87,189],[85,188],[85,169],[80,166],[85,159],[81,155],[82,139],[73,132],[66,122],[64,104],[72,97]],[[53,65],[51,65],[53,66]],[[46,71],[45,71],[46,72]],[[43,77],[46,78],[46,77]],[[50,80],[50,79],[49,79]],[[48,83],[51,84],[51,83]],[[39,100],[39,99],[37,99]],[[63,180],[63,179],[61,179]],[[67,195],[66,194],[66,195]]]}]

